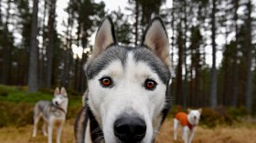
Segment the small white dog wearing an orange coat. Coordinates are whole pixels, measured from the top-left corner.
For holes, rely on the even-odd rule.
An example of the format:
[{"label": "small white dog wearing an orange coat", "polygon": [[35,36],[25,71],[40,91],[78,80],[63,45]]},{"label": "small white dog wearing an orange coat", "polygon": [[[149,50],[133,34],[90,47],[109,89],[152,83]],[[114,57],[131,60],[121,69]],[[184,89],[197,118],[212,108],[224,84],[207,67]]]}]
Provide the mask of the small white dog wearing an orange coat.
[{"label": "small white dog wearing an orange coat", "polygon": [[[176,114],[176,117],[174,119],[174,139],[176,140],[177,136],[177,127],[178,124],[182,125],[182,138],[185,143],[191,143],[196,129],[197,129],[197,124],[199,123],[199,119],[202,113],[202,109],[187,109],[188,114],[184,112],[178,112]],[[190,133],[190,137],[189,136]]]}]

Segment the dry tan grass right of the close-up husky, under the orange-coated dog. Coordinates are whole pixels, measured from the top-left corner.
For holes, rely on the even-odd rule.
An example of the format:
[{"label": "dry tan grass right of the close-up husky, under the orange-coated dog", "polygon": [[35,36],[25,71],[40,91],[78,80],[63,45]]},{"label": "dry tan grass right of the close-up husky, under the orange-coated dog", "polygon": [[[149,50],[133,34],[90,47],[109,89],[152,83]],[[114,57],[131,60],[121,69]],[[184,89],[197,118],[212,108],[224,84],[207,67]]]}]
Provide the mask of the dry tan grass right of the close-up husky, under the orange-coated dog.
[{"label": "dry tan grass right of the close-up husky, under the orange-coated dog", "polygon": [[[256,124],[240,123],[233,126],[218,126],[216,128],[197,128],[193,143],[255,143]],[[156,143],[183,143],[181,128],[178,140],[173,140],[172,119],[166,120],[156,139]]]}]

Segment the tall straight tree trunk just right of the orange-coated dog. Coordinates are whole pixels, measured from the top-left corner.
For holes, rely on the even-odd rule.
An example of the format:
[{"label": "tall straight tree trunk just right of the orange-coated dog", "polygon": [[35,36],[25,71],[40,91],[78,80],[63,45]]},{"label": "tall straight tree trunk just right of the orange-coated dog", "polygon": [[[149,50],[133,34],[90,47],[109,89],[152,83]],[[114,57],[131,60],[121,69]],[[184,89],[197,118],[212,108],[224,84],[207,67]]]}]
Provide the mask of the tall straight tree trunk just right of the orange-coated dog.
[{"label": "tall straight tree trunk just right of the orange-coated dog", "polygon": [[211,14],[211,40],[212,40],[212,67],[211,67],[211,85],[210,85],[210,107],[217,107],[217,70],[216,70],[216,0],[212,0],[212,14]]}]

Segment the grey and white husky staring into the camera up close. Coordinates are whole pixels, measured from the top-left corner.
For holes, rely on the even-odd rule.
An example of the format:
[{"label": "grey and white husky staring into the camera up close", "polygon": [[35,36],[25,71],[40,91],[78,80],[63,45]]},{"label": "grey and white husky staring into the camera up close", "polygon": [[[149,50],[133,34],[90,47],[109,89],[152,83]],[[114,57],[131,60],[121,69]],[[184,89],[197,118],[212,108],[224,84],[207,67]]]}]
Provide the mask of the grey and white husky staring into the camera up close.
[{"label": "grey and white husky staring into the camera up close", "polygon": [[169,42],[160,17],[140,46],[121,46],[112,19],[101,22],[84,66],[88,90],[75,122],[77,143],[151,143],[170,107]]}]

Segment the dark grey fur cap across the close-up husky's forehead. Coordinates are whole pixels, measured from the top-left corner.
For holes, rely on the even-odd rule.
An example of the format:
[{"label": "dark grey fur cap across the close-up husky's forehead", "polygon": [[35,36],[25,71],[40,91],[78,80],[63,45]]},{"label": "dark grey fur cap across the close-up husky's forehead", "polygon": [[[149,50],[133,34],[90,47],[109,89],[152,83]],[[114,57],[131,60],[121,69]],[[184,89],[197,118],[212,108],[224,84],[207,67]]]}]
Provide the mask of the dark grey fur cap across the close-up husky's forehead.
[{"label": "dark grey fur cap across the close-up husky's forehead", "polygon": [[93,77],[97,76],[102,69],[110,66],[110,64],[116,60],[121,61],[124,68],[124,66],[127,65],[127,60],[131,59],[128,57],[129,53],[133,53],[133,64],[136,65],[140,62],[147,64],[147,66],[150,66],[152,71],[154,71],[158,77],[160,77],[160,79],[167,85],[170,78],[170,73],[167,66],[165,66],[165,64],[159,58],[157,58],[153,52],[145,47],[109,47],[100,56],[91,61],[85,68],[87,77],[89,80],[92,79]]}]

